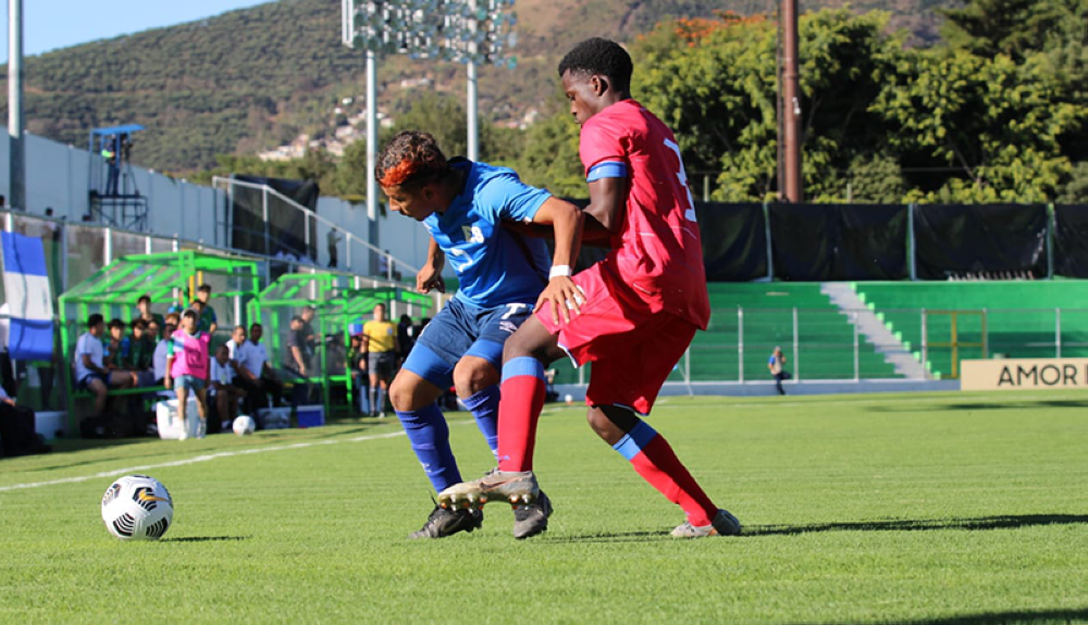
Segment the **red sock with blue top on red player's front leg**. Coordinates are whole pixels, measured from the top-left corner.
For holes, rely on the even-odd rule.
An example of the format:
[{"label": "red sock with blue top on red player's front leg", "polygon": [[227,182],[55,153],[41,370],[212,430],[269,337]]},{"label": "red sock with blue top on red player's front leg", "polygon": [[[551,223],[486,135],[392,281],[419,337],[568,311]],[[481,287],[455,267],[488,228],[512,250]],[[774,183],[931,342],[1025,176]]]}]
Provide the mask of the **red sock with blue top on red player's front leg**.
[{"label": "red sock with blue top on red player's front leg", "polygon": [[498,402],[498,468],[532,471],[536,422],[544,409],[544,365],[534,358],[516,358],[503,365]]}]

